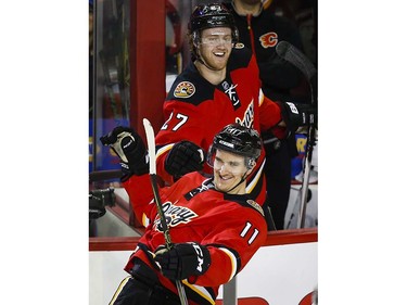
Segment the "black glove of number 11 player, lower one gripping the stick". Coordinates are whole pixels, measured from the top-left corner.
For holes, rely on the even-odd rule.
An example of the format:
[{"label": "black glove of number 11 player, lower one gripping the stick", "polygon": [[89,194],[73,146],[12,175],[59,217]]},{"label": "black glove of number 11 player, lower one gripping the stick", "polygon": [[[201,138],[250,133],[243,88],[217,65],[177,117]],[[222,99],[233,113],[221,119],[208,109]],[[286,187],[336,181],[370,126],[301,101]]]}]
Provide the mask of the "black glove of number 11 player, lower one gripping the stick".
[{"label": "black glove of number 11 player, lower one gripping the stick", "polygon": [[154,260],[161,271],[171,280],[183,280],[191,276],[201,276],[209,268],[211,255],[206,246],[189,242],[176,243],[171,250],[158,246]]}]

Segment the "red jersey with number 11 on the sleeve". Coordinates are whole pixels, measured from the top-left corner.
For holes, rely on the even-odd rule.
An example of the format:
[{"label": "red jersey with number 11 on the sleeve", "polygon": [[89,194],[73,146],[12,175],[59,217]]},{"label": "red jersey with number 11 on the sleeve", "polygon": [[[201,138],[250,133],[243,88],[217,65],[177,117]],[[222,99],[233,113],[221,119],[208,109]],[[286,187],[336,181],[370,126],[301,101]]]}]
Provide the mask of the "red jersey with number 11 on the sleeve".
[{"label": "red jersey with number 11 on the sleeve", "polygon": [[[151,253],[165,240],[149,175],[131,176],[124,187],[136,216],[147,227],[125,270],[139,257],[155,270],[164,287],[177,293],[175,283],[152,266]],[[200,173],[187,174],[160,192],[173,243],[193,241],[211,253],[212,263],[204,275],[193,282],[182,280],[189,304],[215,304],[219,285],[241,271],[264,244],[267,225],[263,209],[246,194],[215,190],[212,177]]]}]

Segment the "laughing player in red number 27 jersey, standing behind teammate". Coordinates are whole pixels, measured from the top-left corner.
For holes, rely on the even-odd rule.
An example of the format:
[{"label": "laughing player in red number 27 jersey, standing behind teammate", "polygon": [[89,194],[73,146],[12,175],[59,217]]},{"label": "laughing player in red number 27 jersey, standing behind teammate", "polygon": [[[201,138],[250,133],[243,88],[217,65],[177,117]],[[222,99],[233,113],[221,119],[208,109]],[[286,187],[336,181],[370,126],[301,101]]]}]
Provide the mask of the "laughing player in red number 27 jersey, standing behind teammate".
[{"label": "laughing player in red number 27 jersey, standing behind teammate", "polygon": [[[237,43],[233,16],[222,4],[198,5],[188,27],[192,62],[167,94],[163,106],[166,122],[155,139],[157,173],[167,183],[192,170],[211,173],[204,153],[227,124],[284,138],[309,119],[303,105],[278,104],[263,94],[256,60]],[[264,163],[262,149],[246,189],[260,205],[266,200]]]}]

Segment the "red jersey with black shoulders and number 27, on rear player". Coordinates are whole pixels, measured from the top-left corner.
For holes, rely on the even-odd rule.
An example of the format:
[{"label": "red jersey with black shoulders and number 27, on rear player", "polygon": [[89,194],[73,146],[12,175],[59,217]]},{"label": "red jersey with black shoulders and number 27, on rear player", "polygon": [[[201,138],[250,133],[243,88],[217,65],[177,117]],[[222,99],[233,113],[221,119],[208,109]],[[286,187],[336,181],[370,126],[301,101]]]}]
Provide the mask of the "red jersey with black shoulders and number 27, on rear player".
[{"label": "red jersey with black shoulders and number 27, on rear player", "polygon": [[[276,127],[281,120],[280,107],[263,96],[258,75],[251,51],[236,47],[227,65],[227,77],[218,86],[203,78],[192,63],[176,78],[163,106],[166,122],[155,139],[158,176],[174,182],[164,162],[179,141],[192,141],[207,151],[214,136],[228,124],[239,123],[258,132]],[[260,205],[266,192],[262,176],[264,161],[263,151],[246,188]],[[204,171],[212,173],[212,168],[205,164]]]}]

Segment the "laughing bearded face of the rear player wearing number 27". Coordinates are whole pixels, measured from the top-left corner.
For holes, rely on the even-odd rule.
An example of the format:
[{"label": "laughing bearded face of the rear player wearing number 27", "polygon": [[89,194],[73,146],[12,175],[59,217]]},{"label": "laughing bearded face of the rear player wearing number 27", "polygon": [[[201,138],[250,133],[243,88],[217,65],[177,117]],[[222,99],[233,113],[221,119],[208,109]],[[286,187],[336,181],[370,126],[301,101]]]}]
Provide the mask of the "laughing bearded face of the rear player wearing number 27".
[{"label": "laughing bearded face of the rear player wearing number 27", "polygon": [[232,46],[232,30],[229,27],[206,28],[201,34],[200,55],[213,69],[224,69]]}]

